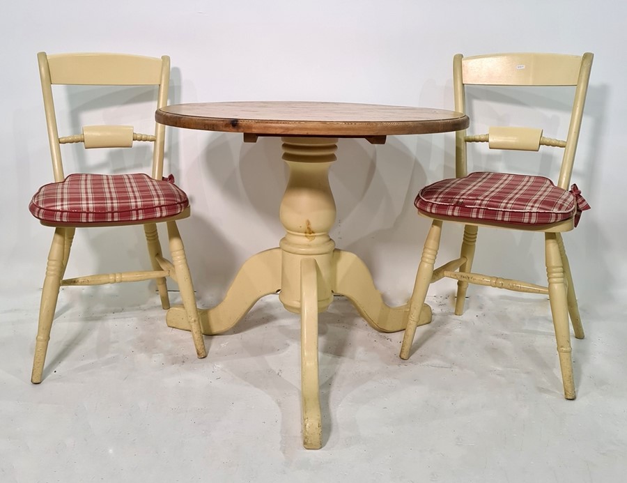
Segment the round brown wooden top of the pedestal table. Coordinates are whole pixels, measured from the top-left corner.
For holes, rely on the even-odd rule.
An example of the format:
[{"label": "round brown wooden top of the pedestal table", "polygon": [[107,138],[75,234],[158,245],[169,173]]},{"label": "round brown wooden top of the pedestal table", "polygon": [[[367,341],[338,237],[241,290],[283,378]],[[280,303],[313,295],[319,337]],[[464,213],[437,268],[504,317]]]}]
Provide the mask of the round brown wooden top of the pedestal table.
[{"label": "round brown wooden top of the pedestal table", "polygon": [[442,109],[343,102],[206,102],[157,109],[177,128],[261,136],[385,137],[465,129],[464,114]]}]

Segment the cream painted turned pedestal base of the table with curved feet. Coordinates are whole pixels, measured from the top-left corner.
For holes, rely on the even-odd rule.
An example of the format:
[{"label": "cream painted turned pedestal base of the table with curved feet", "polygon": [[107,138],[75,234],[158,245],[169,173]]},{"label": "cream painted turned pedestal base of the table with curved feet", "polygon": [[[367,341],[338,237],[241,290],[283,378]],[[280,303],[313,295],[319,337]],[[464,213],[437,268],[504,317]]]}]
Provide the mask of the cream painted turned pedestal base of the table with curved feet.
[{"label": "cream painted turned pedestal base of the table with curved feet", "polygon": [[[303,445],[322,445],[318,383],[318,312],[334,295],[346,296],[359,314],[380,332],[405,329],[409,305],[389,307],[357,255],[336,250],[329,231],[336,208],[329,167],[336,160],[337,138],[284,137],[283,159],[290,177],[279,217],[286,235],[279,248],[251,256],[240,268],[226,296],[211,309],[199,309],[203,334],[214,335],[238,323],[263,296],[279,293],[286,309],[301,316]],[[431,322],[424,305],[418,325]],[[183,307],[167,313],[172,328],[189,330]]]}]

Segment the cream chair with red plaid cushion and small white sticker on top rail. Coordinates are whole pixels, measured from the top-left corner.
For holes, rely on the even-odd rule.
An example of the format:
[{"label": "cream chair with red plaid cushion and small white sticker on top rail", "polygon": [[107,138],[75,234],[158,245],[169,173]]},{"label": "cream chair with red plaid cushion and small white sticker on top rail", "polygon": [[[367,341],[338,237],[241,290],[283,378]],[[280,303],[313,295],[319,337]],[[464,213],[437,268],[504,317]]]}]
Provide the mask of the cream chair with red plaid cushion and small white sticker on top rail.
[{"label": "cream chair with red plaid cushion and small white sticker on top rail", "polygon": [[[456,133],[456,177],[424,187],[415,201],[418,213],[431,218],[432,222],[412,293],[401,358],[409,357],[419,312],[423,307],[429,284],[442,277],[458,280],[455,305],[457,315],[463,312],[469,283],[527,293],[543,293],[550,299],[564,395],[566,399],[575,398],[568,328],[569,314],[575,337],[582,339],[584,332],[562,233],[571,231],[577,226],[582,210],[589,208],[577,186],[572,185],[569,188],[569,185],[591,65],[592,54],[589,53],[582,56],[493,54],[465,58],[458,54],[454,57],[456,111],[467,113],[469,110],[467,104],[470,104],[467,100],[470,101],[471,95],[473,107],[475,101],[486,100],[486,95],[497,90],[501,95],[495,99],[497,102],[514,98],[514,94],[524,93],[527,94],[527,98],[520,102],[520,105],[527,105],[529,99],[541,98],[541,95],[530,98],[529,91],[532,88],[528,86],[538,86],[545,91],[549,89],[547,86],[570,86],[563,89],[574,87],[571,116],[565,140],[544,137],[541,129],[511,126],[490,127],[488,134],[468,135],[465,131]],[[518,88],[512,89],[511,86]],[[472,92],[469,92],[470,90]],[[509,113],[505,116],[500,113],[494,114],[497,107],[498,104],[491,104],[491,111],[484,112],[490,112],[494,117],[501,116],[499,119],[509,118]],[[470,118],[473,124],[477,124],[472,114]],[[552,146],[550,149],[562,148],[564,152],[557,183],[543,176],[493,171],[468,174],[467,143],[477,142],[487,142],[490,149],[501,150],[539,151],[540,146]],[[458,259],[444,263],[434,270],[442,222],[464,224],[463,242]],[[471,273],[478,227],[500,227],[544,233],[548,287]],[[426,319],[424,323],[428,321],[429,319]]]}]

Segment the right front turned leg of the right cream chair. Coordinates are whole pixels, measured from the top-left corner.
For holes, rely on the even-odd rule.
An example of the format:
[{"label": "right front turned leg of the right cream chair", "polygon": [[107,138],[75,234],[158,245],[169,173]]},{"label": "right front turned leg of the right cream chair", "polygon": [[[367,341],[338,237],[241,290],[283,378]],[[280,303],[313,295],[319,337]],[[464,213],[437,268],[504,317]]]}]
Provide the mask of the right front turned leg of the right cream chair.
[{"label": "right front turned leg of the right cream chair", "polygon": [[562,256],[555,233],[545,233],[546,275],[548,278],[549,300],[557,339],[559,366],[562,369],[564,397],[575,399],[573,361],[571,360],[571,334],[568,329],[568,296]]}]

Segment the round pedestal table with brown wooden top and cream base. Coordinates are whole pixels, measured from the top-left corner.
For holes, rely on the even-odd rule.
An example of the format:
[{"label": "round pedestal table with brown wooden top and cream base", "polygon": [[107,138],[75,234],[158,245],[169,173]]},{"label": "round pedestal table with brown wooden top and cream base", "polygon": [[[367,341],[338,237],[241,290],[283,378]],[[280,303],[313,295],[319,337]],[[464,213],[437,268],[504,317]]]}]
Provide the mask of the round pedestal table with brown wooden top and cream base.
[{"label": "round pedestal table with brown wooden top and cream base", "polygon": [[[388,135],[451,132],[467,128],[464,114],[442,109],[341,102],[210,102],[162,107],[158,123],[178,128],[241,132],[244,141],[278,136],[289,179],[279,218],[286,235],[279,247],[245,261],[222,302],[200,309],[206,335],[229,330],[263,296],[279,293],[290,312],[301,316],[302,431],[304,447],[322,445],[318,383],[318,313],[334,295],[346,296],[376,330],[396,332],[407,324],[409,305],[389,307],[371,274],[355,254],[337,250],[329,231],[336,208],[329,167],[338,138],[384,144]],[[431,321],[424,305],[419,325]],[[187,329],[183,307],[167,313],[170,327]]]}]

